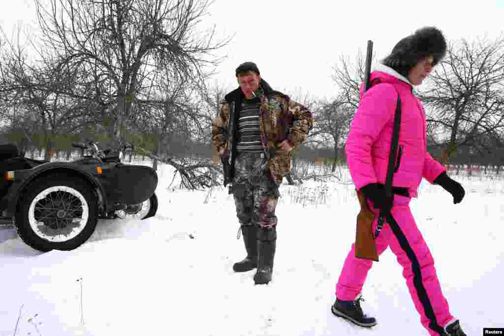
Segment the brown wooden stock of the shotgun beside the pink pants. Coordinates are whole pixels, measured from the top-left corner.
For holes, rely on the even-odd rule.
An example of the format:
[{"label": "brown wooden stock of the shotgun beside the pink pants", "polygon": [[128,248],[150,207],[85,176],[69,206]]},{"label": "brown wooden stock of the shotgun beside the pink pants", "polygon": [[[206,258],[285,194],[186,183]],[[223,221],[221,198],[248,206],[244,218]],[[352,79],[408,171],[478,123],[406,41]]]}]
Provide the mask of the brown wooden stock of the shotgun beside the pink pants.
[{"label": "brown wooden stock of the shotgun beside the pink pants", "polygon": [[361,259],[378,261],[376,244],[373,236],[374,213],[369,209],[366,198],[357,190],[360,212],[357,215],[357,232],[355,237],[355,256]]}]

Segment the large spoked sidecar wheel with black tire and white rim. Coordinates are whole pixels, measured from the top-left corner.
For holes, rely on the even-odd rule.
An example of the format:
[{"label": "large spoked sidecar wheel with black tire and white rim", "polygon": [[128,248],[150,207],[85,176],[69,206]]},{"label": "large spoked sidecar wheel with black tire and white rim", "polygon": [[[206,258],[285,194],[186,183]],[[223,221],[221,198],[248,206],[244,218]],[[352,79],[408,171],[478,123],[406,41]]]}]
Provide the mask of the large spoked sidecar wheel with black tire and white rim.
[{"label": "large spoked sidecar wheel with black tire and white rim", "polygon": [[[55,190],[60,189],[56,188],[60,186],[66,187],[66,189]],[[42,197],[41,193],[43,191],[51,191],[49,193],[51,196]],[[35,201],[38,197],[42,198]],[[49,202],[52,204],[49,204]],[[34,203],[33,209],[30,209],[32,203]],[[42,207],[42,205],[45,205],[45,207]],[[33,213],[30,213],[31,211]],[[41,217],[42,213],[45,217]],[[82,215],[85,223],[75,224],[72,214]],[[32,218],[32,224],[30,224],[30,217]],[[64,218],[61,219],[61,217]],[[42,219],[45,219],[45,221],[39,222]],[[78,177],[57,174],[41,177],[29,184],[20,197],[15,215],[18,235],[26,244],[42,252],[53,249],[61,251],[76,249],[91,237],[97,222],[98,198],[94,194],[90,183]],[[55,226],[55,228],[50,227],[50,225]],[[62,227],[58,227],[60,225]],[[75,236],[67,239],[69,234]],[[58,239],[67,240],[52,241],[46,238],[50,236],[53,236],[54,239],[57,237]]]}]

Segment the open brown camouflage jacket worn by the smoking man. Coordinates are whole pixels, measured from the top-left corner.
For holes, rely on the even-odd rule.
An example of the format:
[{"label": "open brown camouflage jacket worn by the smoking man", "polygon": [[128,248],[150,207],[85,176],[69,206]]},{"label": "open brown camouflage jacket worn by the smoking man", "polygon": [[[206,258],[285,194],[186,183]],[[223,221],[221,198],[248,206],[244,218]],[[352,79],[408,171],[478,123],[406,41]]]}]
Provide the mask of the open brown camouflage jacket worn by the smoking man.
[{"label": "open brown camouflage jacket worn by the smoking man", "polygon": [[[278,146],[287,140],[291,147],[297,148],[306,140],[313,127],[311,112],[303,105],[293,101],[289,96],[274,91],[266,81],[260,82],[263,93],[259,95],[261,143],[268,159],[268,168],[273,181],[280,183],[285,174],[290,172],[292,154]],[[234,173],[236,157],[237,113],[236,106],[241,105],[244,95],[237,88],[224,97],[220,104],[220,116],[212,120],[212,142],[214,150],[219,153],[224,149],[225,160],[231,166],[231,180]],[[230,118],[231,116],[231,118]]]}]

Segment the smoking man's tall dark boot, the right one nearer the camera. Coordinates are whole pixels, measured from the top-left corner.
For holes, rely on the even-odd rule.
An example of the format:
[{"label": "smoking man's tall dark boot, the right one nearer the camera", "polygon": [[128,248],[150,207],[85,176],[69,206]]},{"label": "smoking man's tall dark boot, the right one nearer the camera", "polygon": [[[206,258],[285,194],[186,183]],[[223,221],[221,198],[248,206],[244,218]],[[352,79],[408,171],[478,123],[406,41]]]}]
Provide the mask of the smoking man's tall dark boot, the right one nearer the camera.
[{"label": "smoking man's tall dark boot, the right one nearer the camera", "polygon": [[273,259],[277,243],[276,227],[259,228],[257,235],[258,265],[254,276],[256,285],[268,284],[273,274]]}]

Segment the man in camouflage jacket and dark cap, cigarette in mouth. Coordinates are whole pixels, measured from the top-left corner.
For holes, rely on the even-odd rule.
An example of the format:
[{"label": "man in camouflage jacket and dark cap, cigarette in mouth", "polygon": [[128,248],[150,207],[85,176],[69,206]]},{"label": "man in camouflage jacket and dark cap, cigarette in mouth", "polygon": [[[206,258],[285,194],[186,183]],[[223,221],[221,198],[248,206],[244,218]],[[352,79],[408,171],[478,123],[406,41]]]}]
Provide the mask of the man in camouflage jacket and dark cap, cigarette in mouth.
[{"label": "man in camouflage jacket and dark cap, cigarette in mouth", "polygon": [[291,150],[313,127],[311,112],[289,96],[274,91],[257,65],[236,69],[239,88],[224,97],[220,117],[212,121],[212,141],[224,166],[224,185],[232,182],[236,215],[247,256],[235,272],[257,267],[254,281],[271,281],[276,249],[275,209],[283,176],[290,172]]}]

